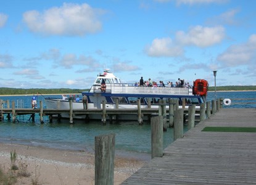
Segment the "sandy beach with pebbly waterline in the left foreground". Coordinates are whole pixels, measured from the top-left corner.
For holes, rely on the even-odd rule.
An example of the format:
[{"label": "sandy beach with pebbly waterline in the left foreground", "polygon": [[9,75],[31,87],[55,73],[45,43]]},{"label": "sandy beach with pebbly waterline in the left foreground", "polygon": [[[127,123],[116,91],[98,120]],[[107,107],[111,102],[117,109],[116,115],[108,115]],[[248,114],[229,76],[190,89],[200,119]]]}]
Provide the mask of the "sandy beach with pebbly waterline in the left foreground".
[{"label": "sandy beach with pebbly waterline in the left foreground", "polygon": [[[18,177],[16,184],[31,184],[36,178],[38,184],[94,184],[94,155],[89,152],[0,143],[0,166],[6,172],[11,166],[10,151],[14,150],[19,170],[25,168],[30,174]],[[121,184],[144,163],[146,161],[115,157],[114,184]]]}]

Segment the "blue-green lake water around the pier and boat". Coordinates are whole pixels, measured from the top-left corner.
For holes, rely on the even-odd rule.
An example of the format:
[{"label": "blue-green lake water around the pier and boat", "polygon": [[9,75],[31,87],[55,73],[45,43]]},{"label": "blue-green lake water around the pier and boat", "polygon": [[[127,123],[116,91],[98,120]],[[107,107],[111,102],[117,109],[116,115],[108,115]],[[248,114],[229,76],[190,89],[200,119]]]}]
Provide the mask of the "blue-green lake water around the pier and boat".
[{"label": "blue-green lake water around the pier and boat", "polygon": [[[60,96],[51,96],[60,97]],[[256,98],[256,92],[217,92],[217,98],[229,98],[231,106],[223,108],[252,108],[255,104],[235,104],[245,102],[243,98]],[[214,92],[209,92],[208,100],[214,98]],[[31,96],[0,96],[0,99],[10,102],[15,101],[18,107],[31,107]],[[38,96],[38,102],[44,97]],[[250,101],[252,102],[252,100]],[[254,101],[256,102],[256,101]],[[233,104],[234,103],[234,104]],[[46,108],[46,107],[44,107]],[[39,115],[35,117],[35,123],[31,123],[30,116],[18,116],[16,123],[8,122],[6,119],[0,122],[0,142],[14,144],[28,144],[32,146],[44,146],[58,149],[88,150],[93,152],[94,137],[100,134],[115,133],[116,152],[122,156],[147,157],[151,152],[151,128],[149,123],[138,125],[137,121],[125,121],[119,124],[102,125],[100,121],[90,121],[89,123],[79,123],[70,125],[68,120],[60,123],[55,121],[49,123],[49,119],[44,117],[44,124],[40,124]],[[184,132],[187,128],[184,127]],[[163,134],[164,147],[173,142],[173,129],[168,128]]]}]

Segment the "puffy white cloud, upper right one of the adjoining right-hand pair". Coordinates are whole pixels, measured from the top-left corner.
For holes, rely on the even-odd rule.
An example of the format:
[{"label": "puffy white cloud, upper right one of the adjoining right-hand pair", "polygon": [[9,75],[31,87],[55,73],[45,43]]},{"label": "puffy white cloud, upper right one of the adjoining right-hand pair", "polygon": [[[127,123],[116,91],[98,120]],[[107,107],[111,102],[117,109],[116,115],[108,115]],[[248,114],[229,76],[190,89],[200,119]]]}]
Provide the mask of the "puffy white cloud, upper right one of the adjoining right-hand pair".
[{"label": "puffy white cloud, upper right one of the adjoining right-hand pair", "polygon": [[208,47],[220,43],[225,38],[225,28],[223,27],[191,27],[188,33],[178,31],[176,41],[182,45],[195,45],[198,47]]}]

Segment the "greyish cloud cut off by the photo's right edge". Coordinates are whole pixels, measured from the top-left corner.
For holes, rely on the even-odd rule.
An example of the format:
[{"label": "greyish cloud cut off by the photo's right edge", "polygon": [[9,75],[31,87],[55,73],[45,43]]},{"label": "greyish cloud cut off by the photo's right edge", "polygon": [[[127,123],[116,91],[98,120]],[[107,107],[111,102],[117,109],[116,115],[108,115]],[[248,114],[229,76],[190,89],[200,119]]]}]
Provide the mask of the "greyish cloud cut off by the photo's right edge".
[{"label": "greyish cloud cut off by the photo's right edge", "polygon": [[256,34],[251,35],[247,43],[234,44],[218,55],[217,60],[224,66],[235,67],[256,61]]}]

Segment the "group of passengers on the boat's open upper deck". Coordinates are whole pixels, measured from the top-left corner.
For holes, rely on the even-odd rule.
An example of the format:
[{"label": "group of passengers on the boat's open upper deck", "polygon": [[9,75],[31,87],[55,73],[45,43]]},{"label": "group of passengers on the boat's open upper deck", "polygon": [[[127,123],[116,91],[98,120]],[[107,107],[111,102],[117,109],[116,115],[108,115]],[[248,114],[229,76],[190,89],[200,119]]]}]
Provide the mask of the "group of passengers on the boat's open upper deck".
[{"label": "group of passengers on the boat's open upper deck", "polygon": [[[159,81],[159,84],[157,84],[156,81],[152,81],[151,78],[149,78],[149,80],[144,81],[143,77],[141,76],[141,79],[139,80],[139,82],[135,83],[135,86],[146,86],[146,87],[165,87],[165,84],[163,83],[163,81]],[[172,81],[168,81],[167,83],[167,87],[168,88],[191,88],[191,86],[189,85],[188,82],[185,82],[185,80],[181,80],[180,78],[178,78],[178,81],[176,81],[176,84],[174,85]]]}]

